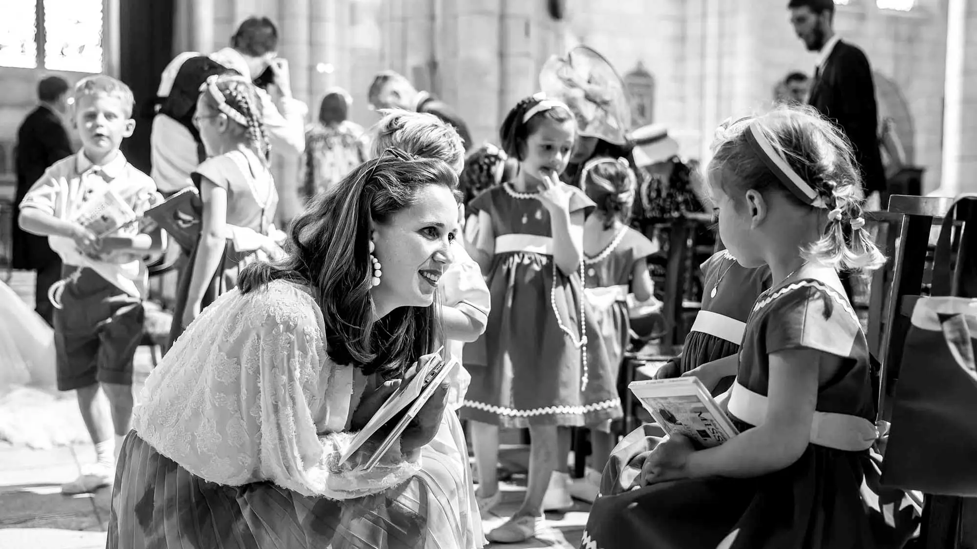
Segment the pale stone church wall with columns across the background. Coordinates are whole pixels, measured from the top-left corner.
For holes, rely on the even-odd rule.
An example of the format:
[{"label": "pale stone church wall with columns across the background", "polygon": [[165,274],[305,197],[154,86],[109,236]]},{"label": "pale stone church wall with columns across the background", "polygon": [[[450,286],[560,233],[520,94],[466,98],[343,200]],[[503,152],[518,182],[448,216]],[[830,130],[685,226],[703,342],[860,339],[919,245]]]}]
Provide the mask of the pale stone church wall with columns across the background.
[{"label": "pale stone church wall with columns across the background", "polygon": [[[910,13],[879,11],[871,0],[839,7],[836,27],[862,47],[879,75],[880,110],[900,122],[911,160],[940,181],[946,1],[917,0]],[[373,74],[393,68],[455,106],[476,142],[497,141],[509,107],[535,91],[541,64],[577,43],[593,46],[627,73],[654,76],[653,118],[688,156],[706,156],[715,125],[770,105],[787,71],[812,72],[788,23],[785,0],[568,0],[553,21],[543,0],[186,0],[179,50],[228,45],[236,24],[266,15],[281,29],[296,96],[316,116],[330,86],[354,98],[351,118],[376,120],[366,102]],[[977,3],[968,2],[962,142],[977,141]],[[38,71],[0,68],[0,145],[12,142],[34,103]],[[76,80],[81,74],[68,73]],[[5,148],[7,148],[5,146]],[[956,169],[972,174],[977,151],[964,147]],[[0,167],[3,160],[0,159]],[[9,162],[8,162],[9,163]],[[279,178],[294,177],[285,166]],[[2,170],[0,170],[2,171]],[[977,190],[963,177],[960,190]],[[292,206],[286,207],[294,207]]]}]

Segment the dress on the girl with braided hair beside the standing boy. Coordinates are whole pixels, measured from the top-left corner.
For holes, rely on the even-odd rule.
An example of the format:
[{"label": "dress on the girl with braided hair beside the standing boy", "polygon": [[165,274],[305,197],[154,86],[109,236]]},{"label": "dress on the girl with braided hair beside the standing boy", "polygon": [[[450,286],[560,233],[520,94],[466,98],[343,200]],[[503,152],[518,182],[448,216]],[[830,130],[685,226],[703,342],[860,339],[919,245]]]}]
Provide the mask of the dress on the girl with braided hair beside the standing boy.
[{"label": "dress on the girl with braided hair beside the standing boy", "polygon": [[[278,206],[278,192],[272,172],[251,151],[234,150],[220,156],[204,160],[192,174],[193,183],[200,187],[203,176],[228,192],[227,224],[244,227],[254,232],[268,234],[275,221]],[[190,260],[180,274],[177,288],[177,302],[173,311],[173,324],[170,328],[170,345],[180,337],[184,327],[180,319],[187,307],[187,294],[190,292],[193,264],[196,261],[199,245],[193,246]],[[217,296],[237,285],[237,275],[244,267],[262,257],[257,251],[239,252],[230,243],[221,254],[200,308],[212,303]]]}]

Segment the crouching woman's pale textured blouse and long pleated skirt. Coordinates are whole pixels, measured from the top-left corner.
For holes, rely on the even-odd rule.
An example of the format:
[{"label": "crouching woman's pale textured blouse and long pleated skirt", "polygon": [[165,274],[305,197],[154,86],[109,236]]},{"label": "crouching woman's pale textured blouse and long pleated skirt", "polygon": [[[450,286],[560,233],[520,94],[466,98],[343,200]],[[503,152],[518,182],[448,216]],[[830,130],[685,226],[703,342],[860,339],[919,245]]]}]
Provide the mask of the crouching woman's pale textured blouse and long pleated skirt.
[{"label": "crouching woman's pale textured blouse and long pleated skirt", "polygon": [[485,544],[455,414],[372,470],[363,450],[339,462],[362,395],[383,380],[330,359],[325,329],[312,290],[282,280],[231,290],[191,323],[133,410],[108,549]]}]

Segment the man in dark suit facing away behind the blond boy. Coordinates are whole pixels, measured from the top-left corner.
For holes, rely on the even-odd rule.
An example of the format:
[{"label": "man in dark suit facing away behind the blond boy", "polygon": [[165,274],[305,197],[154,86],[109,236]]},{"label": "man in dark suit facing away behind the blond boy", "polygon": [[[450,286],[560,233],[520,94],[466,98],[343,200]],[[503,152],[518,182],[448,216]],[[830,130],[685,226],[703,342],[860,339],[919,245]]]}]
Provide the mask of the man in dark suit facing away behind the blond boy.
[{"label": "man in dark suit facing away behind the blond boy", "polygon": [[[71,144],[60,114],[67,110],[68,85],[63,78],[49,76],[37,85],[37,106],[17,131],[17,198],[20,204],[27,190],[41,179],[51,164],[71,155]],[[54,308],[48,289],[61,278],[62,263],[48,245],[46,236],[21,231],[14,224],[14,269],[37,272],[34,303],[37,314],[52,322]]]}]

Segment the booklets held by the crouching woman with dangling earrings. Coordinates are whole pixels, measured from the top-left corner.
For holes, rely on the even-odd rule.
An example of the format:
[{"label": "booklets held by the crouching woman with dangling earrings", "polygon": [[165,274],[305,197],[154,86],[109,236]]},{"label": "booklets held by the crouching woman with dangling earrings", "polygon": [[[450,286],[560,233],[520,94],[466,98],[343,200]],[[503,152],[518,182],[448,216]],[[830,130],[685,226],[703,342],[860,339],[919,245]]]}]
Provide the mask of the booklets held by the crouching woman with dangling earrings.
[{"label": "booklets held by the crouching woman with dangling earrings", "polygon": [[373,417],[370,418],[362,430],[353,438],[350,446],[340,456],[340,463],[346,462],[381,427],[397,418],[401,412],[404,412],[400,415],[400,419],[393,425],[393,428],[380,445],[373,450],[373,453],[363,468],[369,471],[380,461],[383,454],[401,438],[407,425],[417,416],[417,413],[424,407],[425,402],[431,400],[431,396],[434,395],[434,392],[437,391],[438,387],[445,381],[447,375],[458,363],[458,360],[454,357],[450,357],[447,360],[444,359],[441,353],[439,351],[438,355],[428,359],[423,365],[411,368],[412,370],[416,370],[415,372],[407,372],[401,386],[376,410]]}]

